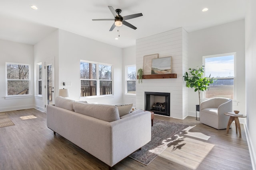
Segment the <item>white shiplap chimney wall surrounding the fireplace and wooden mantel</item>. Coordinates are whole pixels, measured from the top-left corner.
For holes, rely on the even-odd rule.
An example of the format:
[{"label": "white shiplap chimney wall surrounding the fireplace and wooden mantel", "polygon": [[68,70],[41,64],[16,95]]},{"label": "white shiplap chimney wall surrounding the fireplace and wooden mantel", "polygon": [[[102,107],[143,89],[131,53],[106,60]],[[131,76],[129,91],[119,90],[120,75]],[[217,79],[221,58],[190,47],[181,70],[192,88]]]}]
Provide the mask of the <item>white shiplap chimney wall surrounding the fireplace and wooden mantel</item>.
[{"label": "white shiplap chimney wall surrounding the fireplace and wooden mantel", "polygon": [[188,115],[188,88],[182,78],[188,69],[188,33],[182,27],[136,40],[136,69],[143,68],[143,57],[158,54],[172,57],[172,73],[177,78],[143,79],[136,82],[136,107],[145,109],[144,92],[170,93],[170,117]]}]

